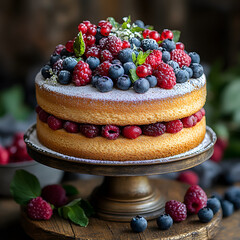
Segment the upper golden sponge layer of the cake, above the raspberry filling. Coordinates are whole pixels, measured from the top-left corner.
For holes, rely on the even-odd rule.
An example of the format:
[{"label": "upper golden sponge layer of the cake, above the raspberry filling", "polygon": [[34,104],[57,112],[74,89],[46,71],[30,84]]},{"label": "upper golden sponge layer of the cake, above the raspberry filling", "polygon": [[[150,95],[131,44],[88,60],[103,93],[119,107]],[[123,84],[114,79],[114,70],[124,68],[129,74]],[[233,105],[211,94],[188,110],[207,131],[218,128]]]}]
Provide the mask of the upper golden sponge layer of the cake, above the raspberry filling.
[{"label": "upper golden sponge layer of the cake, above the raspberry filling", "polygon": [[174,98],[143,101],[103,101],[65,96],[36,84],[37,102],[45,111],[61,119],[97,125],[142,125],[190,116],[206,101],[206,84]]}]

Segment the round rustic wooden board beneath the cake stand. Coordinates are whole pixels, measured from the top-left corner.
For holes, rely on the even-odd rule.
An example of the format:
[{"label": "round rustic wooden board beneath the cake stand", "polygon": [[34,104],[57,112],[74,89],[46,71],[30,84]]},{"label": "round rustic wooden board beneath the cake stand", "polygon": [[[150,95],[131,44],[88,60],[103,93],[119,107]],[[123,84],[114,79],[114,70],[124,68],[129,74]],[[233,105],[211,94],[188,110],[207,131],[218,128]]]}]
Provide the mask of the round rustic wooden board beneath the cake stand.
[{"label": "round rustic wooden board beneath the cake stand", "polygon": [[[110,179],[109,179],[110,180]],[[109,180],[105,180],[109,182]],[[129,180],[129,179],[128,179]],[[138,179],[144,182],[144,179]],[[179,182],[151,179],[151,186],[159,189],[161,195],[166,200],[183,200],[183,196],[188,188],[187,185]],[[92,190],[99,185],[97,180],[80,180],[75,182],[81,193],[81,197],[87,198]],[[115,185],[116,183],[114,183]],[[104,185],[104,184],[103,184]],[[148,185],[148,184],[147,184]],[[99,189],[102,189],[100,187]],[[111,189],[111,188],[110,188]],[[147,189],[147,188],[146,188]],[[101,191],[100,191],[101,192]],[[146,193],[147,191],[145,191]],[[151,191],[150,191],[151,192]],[[105,192],[106,193],[106,192]],[[95,196],[100,197],[99,190]],[[106,196],[106,194],[104,194]],[[94,196],[94,195],[93,195]],[[119,197],[119,193],[118,193]],[[140,198],[140,196],[138,196]],[[153,200],[153,198],[152,198]],[[114,202],[110,200],[111,204]],[[154,202],[154,201],[150,201]],[[150,204],[151,205],[151,204]],[[154,205],[154,204],[153,204]],[[100,204],[101,206],[101,204]],[[104,211],[102,211],[104,212]],[[108,215],[108,214],[107,214]],[[201,223],[196,215],[189,216],[185,221],[174,223],[173,226],[166,231],[158,229],[156,221],[148,221],[148,228],[140,234],[132,232],[130,224],[104,221],[98,218],[91,218],[89,225],[79,227],[69,221],[60,218],[57,214],[48,221],[33,221],[29,219],[24,211],[22,211],[22,226],[26,233],[35,240],[42,239],[98,239],[98,240],[121,240],[121,239],[163,239],[163,240],[193,240],[193,239],[212,239],[220,229],[222,213],[218,212],[209,223]]]}]

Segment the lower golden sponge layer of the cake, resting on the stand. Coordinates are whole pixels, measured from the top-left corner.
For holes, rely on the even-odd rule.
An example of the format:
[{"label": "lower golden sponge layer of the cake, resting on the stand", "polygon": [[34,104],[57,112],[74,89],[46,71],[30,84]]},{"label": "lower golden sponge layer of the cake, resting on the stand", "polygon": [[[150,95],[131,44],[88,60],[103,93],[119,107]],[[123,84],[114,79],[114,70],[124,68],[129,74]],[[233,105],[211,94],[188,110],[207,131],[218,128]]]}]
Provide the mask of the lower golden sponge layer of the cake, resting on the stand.
[{"label": "lower golden sponge layer of the cake, resting on the stand", "polygon": [[173,156],[198,146],[206,132],[205,117],[192,128],[183,128],[175,134],[164,133],[159,137],[141,135],[131,140],[119,137],[86,138],[65,130],[54,131],[37,119],[37,135],[46,147],[70,156],[99,160],[145,160]]}]

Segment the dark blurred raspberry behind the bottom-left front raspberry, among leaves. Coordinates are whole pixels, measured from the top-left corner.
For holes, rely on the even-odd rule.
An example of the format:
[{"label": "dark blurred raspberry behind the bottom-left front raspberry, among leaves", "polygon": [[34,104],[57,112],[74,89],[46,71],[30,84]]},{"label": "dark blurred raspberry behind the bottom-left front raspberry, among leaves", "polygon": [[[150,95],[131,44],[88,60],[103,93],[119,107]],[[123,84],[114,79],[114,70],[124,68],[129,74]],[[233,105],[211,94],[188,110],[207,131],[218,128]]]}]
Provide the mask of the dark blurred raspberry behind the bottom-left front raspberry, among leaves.
[{"label": "dark blurred raspberry behind the bottom-left front raspberry, among leaves", "polygon": [[61,207],[68,201],[65,189],[59,184],[52,184],[44,187],[41,196],[55,207]]}]

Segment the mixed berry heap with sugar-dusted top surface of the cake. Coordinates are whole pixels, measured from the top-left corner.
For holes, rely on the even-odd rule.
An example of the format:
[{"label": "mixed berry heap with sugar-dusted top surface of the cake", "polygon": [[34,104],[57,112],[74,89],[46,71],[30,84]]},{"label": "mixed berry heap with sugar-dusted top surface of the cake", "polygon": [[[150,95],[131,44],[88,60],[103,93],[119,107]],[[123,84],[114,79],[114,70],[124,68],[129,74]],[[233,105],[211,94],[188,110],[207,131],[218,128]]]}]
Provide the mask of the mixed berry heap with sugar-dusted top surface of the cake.
[{"label": "mixed berry heap with sugar-dusted top surface of the cake", "polygon": [[[96,97],[122,95],[125,100],[142,99],[137,95],[148,91],[153,99],[190,92],[205,84],[205,77],[199,55],[188,53],[179,37],[179,31],[160,33],[141,20],[131,23],[130,17],[122,24],[111,17],[98,25],[83,21],[77,36],[57,45],[41,69],[44,85],[74,96],[78,91],[86,96],[95,91]],[[85,85],[89,86],[81,89]]]}]

